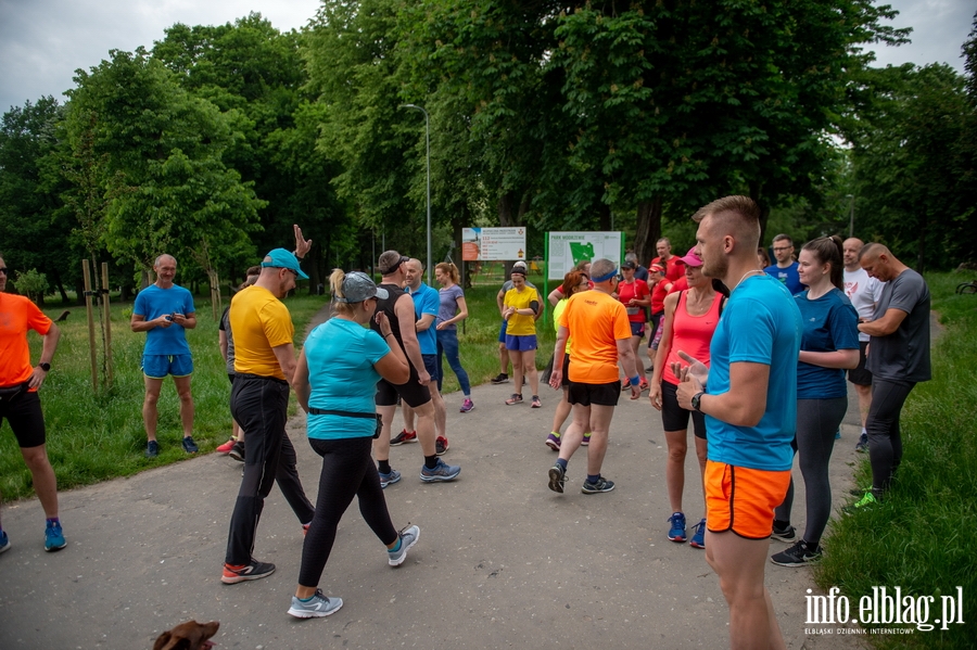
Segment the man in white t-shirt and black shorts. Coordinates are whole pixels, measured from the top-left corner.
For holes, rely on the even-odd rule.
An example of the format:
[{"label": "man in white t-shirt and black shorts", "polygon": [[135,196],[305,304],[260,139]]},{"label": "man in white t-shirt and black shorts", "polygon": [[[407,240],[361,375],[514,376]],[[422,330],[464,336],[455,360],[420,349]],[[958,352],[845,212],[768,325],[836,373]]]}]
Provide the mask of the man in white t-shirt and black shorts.
[{"label": "man in white t-shirt and black shorts", "polygon": [[[870,278],[868,272],[859,264],[859,251],[862,250],[862,240],[849,238],[842,244],[845,254],[845,295],[851,301],[852,307],[859,313],[859,321],[872,320],[875,315],[875,305],[878,303],[884,284],[875,278]],[[865,431],[865,420],[868,418],[868,407],[872,406],[872,373],[865,368],[865,352],[868,348],[868,334],[859,332],[859,367],[848,371],[848,381],[855,387],[859,396],[859,416],[862,422],[862,433],[855,444],[857,451],[868,450],[868,434]]]}]

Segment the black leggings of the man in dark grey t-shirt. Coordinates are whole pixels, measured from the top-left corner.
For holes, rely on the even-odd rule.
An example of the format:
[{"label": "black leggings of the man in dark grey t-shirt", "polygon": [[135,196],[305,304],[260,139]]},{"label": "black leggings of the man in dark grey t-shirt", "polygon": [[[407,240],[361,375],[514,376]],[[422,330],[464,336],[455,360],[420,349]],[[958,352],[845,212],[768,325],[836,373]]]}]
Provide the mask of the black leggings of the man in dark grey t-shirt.
[{"label": "black leggings of the man in dark grey t-shirt", "polygon": [[868,433],[868,462],[872,464],[872,489],[889,489],[892,474],[902,461],[902,436],[899,416],[905,398],[915,386],[911,382],[872,379],[872,406],[865,420]]}]

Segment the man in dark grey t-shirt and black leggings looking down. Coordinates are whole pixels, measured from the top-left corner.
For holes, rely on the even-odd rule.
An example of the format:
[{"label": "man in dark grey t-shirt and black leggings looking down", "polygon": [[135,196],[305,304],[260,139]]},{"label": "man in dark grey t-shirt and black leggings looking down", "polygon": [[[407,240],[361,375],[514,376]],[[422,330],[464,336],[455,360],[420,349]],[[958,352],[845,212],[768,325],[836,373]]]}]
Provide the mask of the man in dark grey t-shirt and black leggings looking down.
[{"label": "man in dark grey t-shirt and black leggings looking down", "polygon": [[872,319],[859,323],[859,331],[870,336],[866,368],[872,372],[872,406],[865,422],[872,489],[854,505],[863,508],[889,488],[902,460],[902,405],[913,386],[929,381],[931,374],[929,288],[923,276],[876,243],[862,247],[859,264],[870,278],[886,283]]}]

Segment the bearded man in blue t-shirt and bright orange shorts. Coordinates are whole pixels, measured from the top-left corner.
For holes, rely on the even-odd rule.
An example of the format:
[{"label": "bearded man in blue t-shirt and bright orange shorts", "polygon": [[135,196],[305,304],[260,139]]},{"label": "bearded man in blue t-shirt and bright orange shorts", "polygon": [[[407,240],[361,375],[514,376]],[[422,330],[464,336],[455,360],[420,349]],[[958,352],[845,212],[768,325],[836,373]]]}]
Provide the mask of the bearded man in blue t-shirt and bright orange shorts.
[{"label": "bearded man in blue t-shirt and bright orange shorts", "polygon": [[[801,316],[786,288],[760,270],[760,208],[726,196],[700,208],[702,272],[729,288],[709,346],[711,369],[673,365],[678,404],[706,415],[706,559],[729,606],[733,648],[784,648],[763,584],[774,508],[790,483]],[[575,342],[574,342],[575,345]]]}]

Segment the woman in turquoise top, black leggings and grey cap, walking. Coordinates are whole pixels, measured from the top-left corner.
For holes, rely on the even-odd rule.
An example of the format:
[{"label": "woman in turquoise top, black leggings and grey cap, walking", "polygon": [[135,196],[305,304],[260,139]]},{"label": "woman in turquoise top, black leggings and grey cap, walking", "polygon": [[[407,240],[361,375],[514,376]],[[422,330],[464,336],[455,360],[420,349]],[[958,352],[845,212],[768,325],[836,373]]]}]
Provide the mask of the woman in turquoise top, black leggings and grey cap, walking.
[{"label": "woman in turquoise top, black leggings and grey cap, walking", "polygon": [[[377,299],[388,292],[365,273],[329,278],[335,315],[312,331],[299,357],[293,386],[299,404],[308,412],[308,444],[322,457],[316,514],[302,548],[299,587],[289,613],[299,619],[328,616],[338,611],[341,598],[326,597],[318,588],[339,521],[353,497],[367,525],[386,546],[388,562],[397,566],[420,531],[409,526],[397,533],[390,521],[377,466],[370,457],[379,430],[373,404],[377,381],[382,377],[402,384],[410,377],[407,358],[394,341],[383,313],[376,315],[380,334],[368,329]],[[399,476],[398,476],[399,477]]]}]

